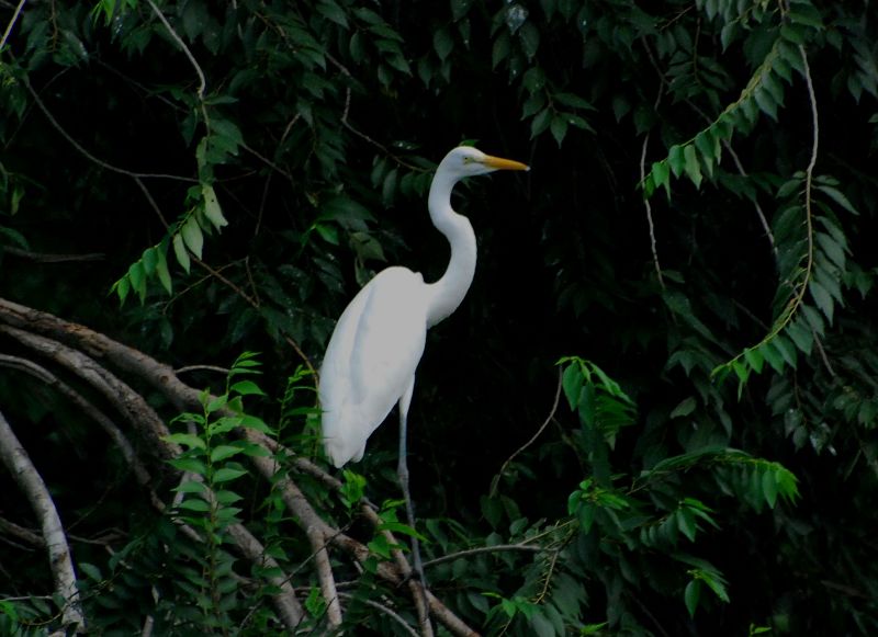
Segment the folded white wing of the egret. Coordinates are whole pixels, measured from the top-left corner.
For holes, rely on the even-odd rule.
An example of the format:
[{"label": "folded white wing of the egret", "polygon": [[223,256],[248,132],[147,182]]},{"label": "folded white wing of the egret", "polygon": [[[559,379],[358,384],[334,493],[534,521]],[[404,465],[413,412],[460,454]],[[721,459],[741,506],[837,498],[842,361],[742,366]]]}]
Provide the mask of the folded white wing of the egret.
[{"label": "folded white wing of the egret", "polygon": [[415,374],[427,334],[420,274],[389,268],[338,320],[320,369],[323,435],[336,466],[359,459]]}]

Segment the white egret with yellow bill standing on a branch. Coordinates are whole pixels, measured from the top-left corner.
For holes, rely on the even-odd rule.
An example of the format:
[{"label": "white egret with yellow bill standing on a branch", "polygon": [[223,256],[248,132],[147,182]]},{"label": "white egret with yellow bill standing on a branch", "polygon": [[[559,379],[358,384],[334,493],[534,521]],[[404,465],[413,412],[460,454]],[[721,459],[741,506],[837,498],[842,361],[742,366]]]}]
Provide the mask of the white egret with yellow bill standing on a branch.
[{"label": "white egret with yellow bill standing on a branch", "polygon": [[[407,268],[380,272],[341,314],[320,368],[324,445],[336,467],[361,459],[369,436],[393,406],[399,405],[399,485],[413,527],[406,425],[415,371],[427,329],[458,308],[475,273],[475,232],[469,219],[451,208],[451,190],[465,177],[495,170],[529,169],[465,146],[442,159],[432,178],[428,208],[434,226],[451,246],[446,273],[435,283],[425,283],[420,273]],[[416,541],[413,553],[416,571],[423,577]]]}]

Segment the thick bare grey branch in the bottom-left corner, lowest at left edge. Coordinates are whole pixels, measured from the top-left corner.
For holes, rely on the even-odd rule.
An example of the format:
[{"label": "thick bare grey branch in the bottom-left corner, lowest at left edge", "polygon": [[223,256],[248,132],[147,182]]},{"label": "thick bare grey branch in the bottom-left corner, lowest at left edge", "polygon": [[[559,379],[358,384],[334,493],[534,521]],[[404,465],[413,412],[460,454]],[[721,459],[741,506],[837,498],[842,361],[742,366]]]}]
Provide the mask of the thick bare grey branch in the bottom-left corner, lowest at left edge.
[{"label": "thick bare grey branch in the bottom-left corner, lowest at left edge", "polygon": [[79,604],[74,560],[70,557],[70,547],[64,534],[61,519],[46,484],[2,413],[0,413],[0,457],[40,520],[43,539],[48,550],[49,569],[55,580],[55,592],[65,600],[61,611],[64,625],[82,633],[86,629],[86,617]]}]

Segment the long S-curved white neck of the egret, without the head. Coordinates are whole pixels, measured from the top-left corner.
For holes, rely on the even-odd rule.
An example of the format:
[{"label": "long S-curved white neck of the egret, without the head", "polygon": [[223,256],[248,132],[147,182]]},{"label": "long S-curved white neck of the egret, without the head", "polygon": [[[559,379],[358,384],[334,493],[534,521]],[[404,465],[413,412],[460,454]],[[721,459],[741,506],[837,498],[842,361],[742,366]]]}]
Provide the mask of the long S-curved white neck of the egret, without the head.
[{"label": "long S-curved white neck of the egret, without the head", "polygon": [[449,317],[466,296],[475,275],[475,232],[463,215],[451,208],[451,189],[457,180],[437,175],[430,186],[428,207],[432,225],[451,246],[451,260],[442,277],[428,284],[427,322],[435,326]]}]

